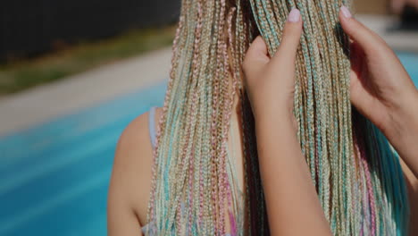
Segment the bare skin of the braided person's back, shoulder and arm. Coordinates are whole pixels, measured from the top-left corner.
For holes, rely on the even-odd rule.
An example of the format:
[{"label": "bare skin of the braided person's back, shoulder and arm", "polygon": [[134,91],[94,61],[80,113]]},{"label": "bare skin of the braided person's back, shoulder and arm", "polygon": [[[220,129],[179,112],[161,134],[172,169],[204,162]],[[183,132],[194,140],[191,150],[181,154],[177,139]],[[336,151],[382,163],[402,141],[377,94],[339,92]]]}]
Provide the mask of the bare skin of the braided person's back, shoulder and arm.
[{"label": "bare skin of the braided person's back, shoulder and arm", "polygon": [[[231,116],[228,146],[235,162],[238,186],[242,189],[244,185],[243,152],[239,135],[241,131],[239,130],[238,108],[235,111]],[[136,221],[138,227],[132,228],[136,228],[137,232],[140,231],[139,225],[144,226],[148,223],[146,222],[146,214],[152,181],[153,135],[155,135],[161,114],[161,108],[155,109],[155,117],[151,117],[150,115],[153,114],[149,112],[142,114],[130,122],[130,125],[121,134],[113,164],[108,201],[108,214],[118,216],[108,217],[109,235],[123,234],[121,230],[126,231],[126,229],[121,229],[122,227],[118,225],[126,224],[127,221]],[[152,131],[152,122],[155,124],[155,131]],[[228,229],[228,223],[226,226]],[[130,235],[130,232],[126,233],[123,235]]]}]

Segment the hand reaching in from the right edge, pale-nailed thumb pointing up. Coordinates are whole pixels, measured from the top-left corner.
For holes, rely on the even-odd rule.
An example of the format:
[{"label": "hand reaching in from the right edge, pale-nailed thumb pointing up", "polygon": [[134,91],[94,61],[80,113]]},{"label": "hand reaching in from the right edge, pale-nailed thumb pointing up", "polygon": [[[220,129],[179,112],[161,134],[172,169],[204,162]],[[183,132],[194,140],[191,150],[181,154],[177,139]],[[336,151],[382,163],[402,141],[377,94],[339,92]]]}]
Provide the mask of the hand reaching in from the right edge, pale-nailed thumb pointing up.
[{"label": "hand reaching in from the right edge, pale-nailed thumb pointing up", "polygon": [[[352,104],[385,134],[400,156],[406,157],[406,164],[415,162],[412,169],[418,173],[418,150],[414,151],[418,141],[418,91],[413,81],[383,39],[356,21],[344,6],[339,20],[353,40]],[[415,161],[409,158],[413,152]]]}]

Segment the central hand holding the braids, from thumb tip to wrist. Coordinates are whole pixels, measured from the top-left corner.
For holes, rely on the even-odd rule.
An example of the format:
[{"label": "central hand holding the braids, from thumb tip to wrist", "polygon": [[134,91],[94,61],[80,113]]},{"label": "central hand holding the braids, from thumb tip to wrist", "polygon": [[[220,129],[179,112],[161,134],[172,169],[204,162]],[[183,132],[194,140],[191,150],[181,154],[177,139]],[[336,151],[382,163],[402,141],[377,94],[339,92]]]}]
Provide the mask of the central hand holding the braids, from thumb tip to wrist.
[{"label": "central hand holding the braids, from thumb tip to wrist", "polygon": [[295,62],[302,34],[302,19],[292,10],[285,25],[282,42],[272,58],[260,36],[249,46],[243,63],[247,95],[259,117],[294,120]]}]

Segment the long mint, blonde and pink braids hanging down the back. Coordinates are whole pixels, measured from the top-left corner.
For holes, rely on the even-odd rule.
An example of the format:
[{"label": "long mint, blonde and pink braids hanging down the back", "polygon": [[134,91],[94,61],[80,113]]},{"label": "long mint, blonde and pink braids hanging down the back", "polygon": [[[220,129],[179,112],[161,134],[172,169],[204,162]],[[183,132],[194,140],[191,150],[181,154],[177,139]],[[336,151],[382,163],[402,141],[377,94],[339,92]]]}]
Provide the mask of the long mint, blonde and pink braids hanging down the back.
[{"label": "long mint, blonde and pink braids hanging down the back", "polygon": [[[349,41],[338,21],[342,4],[350,5],[182,0],[157,130],[146,235],[269,235],[241,64],[258,34],[274,55],[293,7],[304,21],[296,64],[297,136],[330,229],[334,235],[407,235],[409,206],[399,158],[350,104]],[[236,97],[244,190],[238,188],[237,157],[228,147]]]}]

